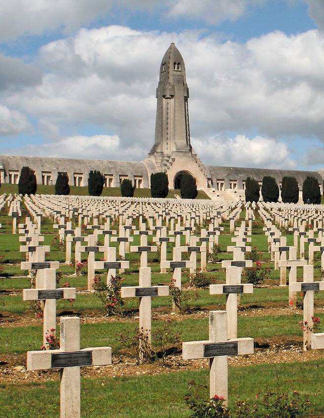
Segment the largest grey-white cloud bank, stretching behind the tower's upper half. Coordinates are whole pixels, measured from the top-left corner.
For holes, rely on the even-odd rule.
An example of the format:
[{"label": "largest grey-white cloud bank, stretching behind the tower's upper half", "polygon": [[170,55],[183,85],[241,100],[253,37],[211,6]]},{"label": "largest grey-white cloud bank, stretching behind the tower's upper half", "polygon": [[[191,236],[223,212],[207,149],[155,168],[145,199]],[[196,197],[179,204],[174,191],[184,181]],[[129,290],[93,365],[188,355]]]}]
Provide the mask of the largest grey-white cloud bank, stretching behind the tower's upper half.
[{"label": "largest grey-white cloud bank, stretching behind the tower's upper half", "polygon": [[[32,65],[42,68],[41,84],[26,83],[0,100],[38,120],[47,139],[99,126],[100,132],[118,135],[120,150],[136,144],[138,153],[129,155],[144,158],[154,142],[159,67],[173,36],[186,63],[196,140],[253,131],[279,143],[296,135],[324,142],[320,32],[272,32],[243,44],[202,35],[121,26],[82,29],[40,49]],[[124,153],[116,159],[125,160]]]}]

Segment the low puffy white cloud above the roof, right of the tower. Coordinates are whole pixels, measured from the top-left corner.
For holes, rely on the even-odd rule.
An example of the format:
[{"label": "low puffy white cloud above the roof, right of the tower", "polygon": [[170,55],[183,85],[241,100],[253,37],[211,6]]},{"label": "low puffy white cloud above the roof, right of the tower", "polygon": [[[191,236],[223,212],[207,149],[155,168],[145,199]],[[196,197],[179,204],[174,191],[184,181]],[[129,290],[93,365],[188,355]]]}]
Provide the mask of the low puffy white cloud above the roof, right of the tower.
[{"label": "low puffy white cloud above the roof, right of the tower", "polygon": [[287,144],[256,136],[214,136],[192,141],[194,151],[209,165],[259,168],[295,168]]}]

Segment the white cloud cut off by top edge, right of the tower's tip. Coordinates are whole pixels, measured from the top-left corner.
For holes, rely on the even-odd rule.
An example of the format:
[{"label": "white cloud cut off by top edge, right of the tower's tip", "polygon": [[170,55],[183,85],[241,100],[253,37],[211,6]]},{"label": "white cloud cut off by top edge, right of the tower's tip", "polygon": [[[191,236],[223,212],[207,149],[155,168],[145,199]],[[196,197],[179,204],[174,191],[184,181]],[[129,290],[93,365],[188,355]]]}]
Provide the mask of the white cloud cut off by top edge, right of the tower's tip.
[{"label": "white cloud cut off by top edge, right of the tower's tip", "polygon": [[170,16],[202,19],[210,24],[223,20],[235,21],[242,17],[250,6],[262,4],[265,0],[177,0],[169,10]]}]

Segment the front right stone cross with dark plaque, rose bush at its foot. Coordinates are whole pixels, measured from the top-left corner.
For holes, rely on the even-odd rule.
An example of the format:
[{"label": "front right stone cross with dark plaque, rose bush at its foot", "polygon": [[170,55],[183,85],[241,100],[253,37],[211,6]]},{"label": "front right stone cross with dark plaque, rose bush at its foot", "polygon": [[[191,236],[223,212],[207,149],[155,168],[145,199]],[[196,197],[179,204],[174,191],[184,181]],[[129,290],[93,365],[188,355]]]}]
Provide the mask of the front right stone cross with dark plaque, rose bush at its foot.
[{"label": "front right stone cross with dark plaque, rose bush at its foot", "polygon": [[228,403],[228,355],[254,353],[253,338],[227,339],[227,312],[209,312],[209,340],[182,343],[184,360],[209,358],[209,393]]}]

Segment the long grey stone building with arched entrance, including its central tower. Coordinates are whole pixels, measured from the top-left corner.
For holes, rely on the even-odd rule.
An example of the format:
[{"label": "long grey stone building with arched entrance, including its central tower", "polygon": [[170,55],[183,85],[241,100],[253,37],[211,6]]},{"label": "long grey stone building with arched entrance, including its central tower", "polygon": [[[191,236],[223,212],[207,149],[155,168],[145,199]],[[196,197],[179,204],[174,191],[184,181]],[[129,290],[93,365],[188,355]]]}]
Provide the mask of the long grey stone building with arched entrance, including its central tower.
[{"label": "long grey stone building with arched entrance, including its central tower", "polygon": [[17,184],[23,166],[31,167],[37,184],[55,184],[58,173],[65,172],[70,185],[86,186],[89,171],[99,170],[106,187],[119,187],[130,179],[136,188],[150,187],[151,173],[167,173],[169,187],[179,189],[183,173],[191,174],[199,190],[215,199],[239,199],[244,195],[245,180],[254,177],[259,184],[263,176],[273,176],[280,185],[284,176],[297,179],[299,189],[307,176],[318,179],[323,192],[324,170],[292,171],[263,168],[239,168],[204,165],[190,142],[189,88],[184,60],[171,43],[160,66],[157,88],[155,140],[147,158],[141,162],[76,160],[66,158],[0,156],[1,183]]}]

